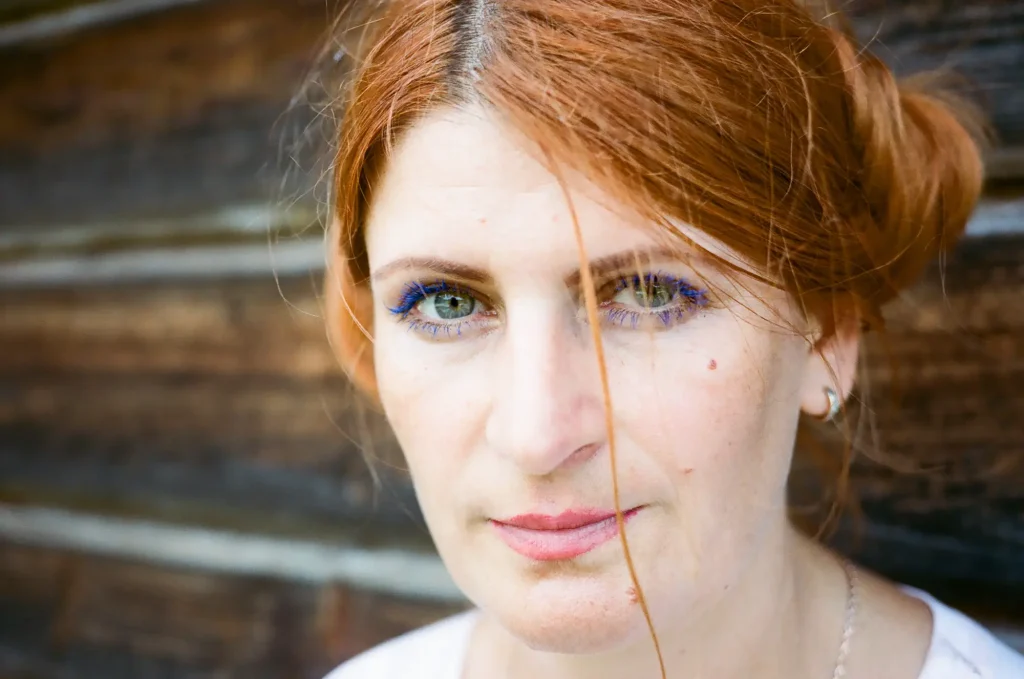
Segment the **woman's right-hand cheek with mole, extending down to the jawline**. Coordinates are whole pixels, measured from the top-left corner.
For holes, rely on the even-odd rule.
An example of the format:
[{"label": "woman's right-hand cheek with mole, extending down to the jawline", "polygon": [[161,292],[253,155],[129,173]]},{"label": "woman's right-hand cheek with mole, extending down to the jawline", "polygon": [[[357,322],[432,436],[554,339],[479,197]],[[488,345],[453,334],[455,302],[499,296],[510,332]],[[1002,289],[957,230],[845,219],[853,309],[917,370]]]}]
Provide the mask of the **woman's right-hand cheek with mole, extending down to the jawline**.
[{"label": "woman's right-hand cheek with mole, extending down to the jawline", "polygon": [[680,564],[693,564],[687,596],[698,599],[734,583],[784,520],[800,373],[775,334],[703,330],[653,359],[618,362],[613,384],[621,450],[632,458],[623,468],[638,468],[634,480],[664,508],[650,582],[678,582]]}]

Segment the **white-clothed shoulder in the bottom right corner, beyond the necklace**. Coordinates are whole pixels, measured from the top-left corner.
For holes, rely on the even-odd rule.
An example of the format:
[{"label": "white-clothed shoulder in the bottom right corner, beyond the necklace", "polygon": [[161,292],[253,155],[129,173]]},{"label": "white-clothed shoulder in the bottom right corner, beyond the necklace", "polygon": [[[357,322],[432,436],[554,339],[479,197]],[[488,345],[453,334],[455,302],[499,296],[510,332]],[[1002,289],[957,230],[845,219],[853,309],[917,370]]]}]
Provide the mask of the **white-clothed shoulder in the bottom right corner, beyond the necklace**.
[{"label": "white-clothed shoulder in the bottom right corner, beyond the necklace", "polygon": [[932,642],[920,679],[1024,678],[1024,656],[989,630],[925,592],[906,591],[932,609]]}]

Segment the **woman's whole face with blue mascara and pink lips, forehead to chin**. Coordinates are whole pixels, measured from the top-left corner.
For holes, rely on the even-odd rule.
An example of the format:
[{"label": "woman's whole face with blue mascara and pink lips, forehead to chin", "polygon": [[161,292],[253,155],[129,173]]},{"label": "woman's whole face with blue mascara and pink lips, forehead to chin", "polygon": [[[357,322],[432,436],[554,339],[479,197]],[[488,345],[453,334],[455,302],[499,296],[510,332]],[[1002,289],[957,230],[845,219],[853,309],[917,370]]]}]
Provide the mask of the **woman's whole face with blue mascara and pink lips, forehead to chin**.
[{"label": "woman's whole face with blue mascara and pink lips, forehead to chin", "polygon": [[[659,250],[657,231],[593,186],[569,195],[643,593],[655,619],[710,609],[781,547],[798,415],[825,410],[827,369],[785,293]],[[380,396],[457,584],[535,648],[646,637],[613,519],[544,529],[614,510],[558,181],[482,111],[434,114],[396,146],[367,245]]]}]

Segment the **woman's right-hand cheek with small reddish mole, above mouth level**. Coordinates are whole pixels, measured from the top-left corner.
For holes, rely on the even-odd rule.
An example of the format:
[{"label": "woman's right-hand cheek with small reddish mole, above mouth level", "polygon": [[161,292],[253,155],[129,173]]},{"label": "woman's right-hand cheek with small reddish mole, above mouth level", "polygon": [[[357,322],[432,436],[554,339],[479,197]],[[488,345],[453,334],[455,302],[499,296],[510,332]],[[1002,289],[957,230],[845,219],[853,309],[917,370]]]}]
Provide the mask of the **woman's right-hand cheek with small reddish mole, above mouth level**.
[{"label": "woman's right-hand cheek with small reddish mole, above mouth level", "polygon": [[684,339],[620,362],[613,388],[624,434],[677,497],[698,502],[716,522],[722,512],[777,502],[800,404],[792,340],[725,321]]}]

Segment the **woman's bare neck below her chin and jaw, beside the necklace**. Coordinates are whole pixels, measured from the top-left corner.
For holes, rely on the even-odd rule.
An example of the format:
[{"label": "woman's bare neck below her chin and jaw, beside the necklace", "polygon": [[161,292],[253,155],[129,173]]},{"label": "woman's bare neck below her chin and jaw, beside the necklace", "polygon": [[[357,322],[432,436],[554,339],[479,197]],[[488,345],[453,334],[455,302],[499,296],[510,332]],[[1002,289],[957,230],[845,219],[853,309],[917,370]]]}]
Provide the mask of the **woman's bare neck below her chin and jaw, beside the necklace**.
[{"label": "woman's bare neck below her chin and jaw, beside the necklace", "polygon": [[[674,610],[655,618],[668,677],[831,677],[845,614],[845,576],[824,550],[787,522],[780,524],[728,593],[698,614]],[[600,654],[558,654],[531,650],[489,625],[505,651],[498,654],[506,659],[501,676],[509,679],[660,677],[646,635]]]}]

